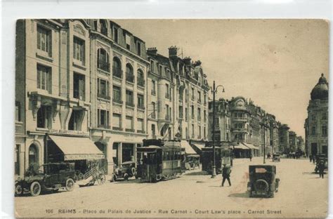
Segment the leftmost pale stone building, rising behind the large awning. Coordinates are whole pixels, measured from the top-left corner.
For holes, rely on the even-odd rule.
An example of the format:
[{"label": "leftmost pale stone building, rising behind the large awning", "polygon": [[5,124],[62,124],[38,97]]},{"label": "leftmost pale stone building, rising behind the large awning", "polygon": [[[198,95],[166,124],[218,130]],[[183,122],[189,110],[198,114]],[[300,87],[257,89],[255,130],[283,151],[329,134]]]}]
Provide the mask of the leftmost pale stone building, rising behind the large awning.
[{"label": "leftmost pale stone building, rising behind the large awning", "polygon": [[59,148],[62,159],[79,159],[68,153],[69,139],[95,150],[87,138],[90,27],[84,20],[18,20],[16,28],[15,174],[24,175],[31,164],[57,159]]}]

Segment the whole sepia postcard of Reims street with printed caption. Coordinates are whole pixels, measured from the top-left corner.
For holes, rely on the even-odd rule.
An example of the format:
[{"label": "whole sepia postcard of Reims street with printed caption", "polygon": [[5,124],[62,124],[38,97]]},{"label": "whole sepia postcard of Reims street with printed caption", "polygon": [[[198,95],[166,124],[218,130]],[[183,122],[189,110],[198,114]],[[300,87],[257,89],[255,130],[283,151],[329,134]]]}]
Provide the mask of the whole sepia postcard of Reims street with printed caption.
[{"label": "whole sepia postcard of Reims street with printed caption", "polygon": [[326,20],[27,19],[15,42],[16,217],[327,215]]}]

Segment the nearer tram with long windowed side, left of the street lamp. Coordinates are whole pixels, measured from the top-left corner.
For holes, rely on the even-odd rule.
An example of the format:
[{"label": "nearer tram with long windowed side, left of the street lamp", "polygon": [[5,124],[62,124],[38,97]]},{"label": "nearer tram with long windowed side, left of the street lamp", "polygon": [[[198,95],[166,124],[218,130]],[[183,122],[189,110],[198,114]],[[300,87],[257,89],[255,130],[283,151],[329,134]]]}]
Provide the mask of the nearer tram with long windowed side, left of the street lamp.
[{"label": "nearer tram with long windowed side, left of the street lamp", "polygon": [[169,140],[143,140],[143,147],[137,148],[137,178],[143,182],[155,183],[176,178],[182,173],[181,142]]}]

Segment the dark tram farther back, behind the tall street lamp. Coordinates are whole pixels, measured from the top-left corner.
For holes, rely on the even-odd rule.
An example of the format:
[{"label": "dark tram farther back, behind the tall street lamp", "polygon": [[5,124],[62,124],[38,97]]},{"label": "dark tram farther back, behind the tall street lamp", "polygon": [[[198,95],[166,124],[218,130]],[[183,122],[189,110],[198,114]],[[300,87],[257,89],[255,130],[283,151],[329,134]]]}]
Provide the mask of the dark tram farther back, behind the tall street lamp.
[{"label": "dark tram farther back, behind the tall street lamp", "polygon": [[[216,173],[222,172],[222,165],[226,164],[230,166],[231,156],[230,150],[225,149],[224,147],[215,147],[215,166]],[[206,171],[211,174],[213,166],[213,147],[203,147],[202,148],[202,171]]]}]

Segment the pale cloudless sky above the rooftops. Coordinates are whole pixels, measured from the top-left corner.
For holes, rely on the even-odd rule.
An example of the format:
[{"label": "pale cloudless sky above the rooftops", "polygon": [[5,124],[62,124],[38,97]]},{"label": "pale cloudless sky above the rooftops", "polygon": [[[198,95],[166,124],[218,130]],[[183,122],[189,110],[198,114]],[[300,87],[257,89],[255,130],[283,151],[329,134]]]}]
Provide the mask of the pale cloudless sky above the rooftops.
[{"label": "pale cloudless sky above the rooftops", "polygon": [[[216,98],[243,96],[304,137],[312,88],[328,80],[329,25],[325,20],[115,20],[168,56],[201,60]],[[181,56],[181,55],[180,55]]]}]

